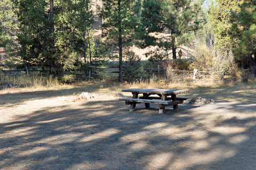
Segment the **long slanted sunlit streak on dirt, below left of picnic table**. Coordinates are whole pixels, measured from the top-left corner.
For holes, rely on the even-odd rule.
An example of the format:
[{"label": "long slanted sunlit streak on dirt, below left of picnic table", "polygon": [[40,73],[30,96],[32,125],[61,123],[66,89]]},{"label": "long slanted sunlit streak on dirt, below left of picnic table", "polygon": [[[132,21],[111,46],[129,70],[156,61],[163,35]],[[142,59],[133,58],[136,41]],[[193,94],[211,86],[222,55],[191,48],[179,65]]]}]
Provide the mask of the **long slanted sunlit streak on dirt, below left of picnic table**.
[{"label": "long slanted sunlit streak on dirt, below left of picnic table", "polygon": [[120,132],[120,131],[117,130],[117,129],[108,129],[108,130],[105,130],[105,131],[102,131],[102,132],[99,132],[99,133],[96,133],[96,134],[89,135],[88,137],[83,137],[79,141],[89,142],[89,141],[92,141],[92,140],[108,138],[111,135],[114,135],[118,132]]}]

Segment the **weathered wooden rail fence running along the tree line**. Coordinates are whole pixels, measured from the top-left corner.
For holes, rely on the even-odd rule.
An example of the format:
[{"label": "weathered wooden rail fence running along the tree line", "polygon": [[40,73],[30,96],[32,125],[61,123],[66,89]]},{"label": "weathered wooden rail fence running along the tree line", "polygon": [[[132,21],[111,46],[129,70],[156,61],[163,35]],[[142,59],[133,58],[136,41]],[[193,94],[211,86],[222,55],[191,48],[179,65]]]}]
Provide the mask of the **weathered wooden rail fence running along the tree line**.
[{"label": "weathered wooden rail fence running along the tree line", "polygon": [[[1,69],[1,66],[15,66],[22,69]],[[133,79],[140,79],[141,81],[170,81],[170,80],[206,80],[206,81],[220,81],[230,79],[230,75],[227,71],[213,72],[213,71],[198,71],[194,69],[193,71],[184,70],[166,70],[161,68],[159,65],[157,68],[144,68],[146,76],[145,77],[134,77]],[[42,75],[47,76],[50,74],[50,70],[39,70],[39,69],[29,69],[28,66],[22,64],[0,64],[0,72],[4,75],[17,76],[17,75]],[[118,67],[105,67],[105,66],[89,66],[84,70],[69,70],[65,74],[74,74],[78,79],[93,79],[93,78],[118,78]],[[129,79],[130,80],[130,79]]]}]

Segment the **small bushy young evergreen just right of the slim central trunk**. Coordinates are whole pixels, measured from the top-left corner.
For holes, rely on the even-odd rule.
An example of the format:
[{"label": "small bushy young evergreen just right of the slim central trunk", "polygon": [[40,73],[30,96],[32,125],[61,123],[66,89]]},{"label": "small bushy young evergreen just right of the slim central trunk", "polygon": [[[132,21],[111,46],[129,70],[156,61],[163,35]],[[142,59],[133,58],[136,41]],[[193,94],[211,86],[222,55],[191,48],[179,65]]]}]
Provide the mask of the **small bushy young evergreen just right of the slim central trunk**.
[{"label": "small bushy young evergreen just right of the slim central trunk", "polygon": [[135,55],[134,52],[127,49],[124,53],[124,60],[126,62],[124,63],[123,74],[129,81],[130,78],[145,76],[145,70],[143,69],[143,65],[138,55]]}]

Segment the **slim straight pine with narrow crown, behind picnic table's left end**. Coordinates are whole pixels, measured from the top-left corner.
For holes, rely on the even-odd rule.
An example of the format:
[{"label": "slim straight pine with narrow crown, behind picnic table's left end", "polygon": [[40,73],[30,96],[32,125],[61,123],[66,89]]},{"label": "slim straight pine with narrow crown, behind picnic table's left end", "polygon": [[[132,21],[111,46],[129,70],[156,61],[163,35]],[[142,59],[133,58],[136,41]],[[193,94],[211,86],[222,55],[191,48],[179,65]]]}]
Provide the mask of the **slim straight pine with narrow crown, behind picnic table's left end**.
[{"label": "slim straight pine with narrow crown, behind picnic table's left end", "polygon": [[102,3],[102,28],[106,30],[108,43],[118,50],[119,81],[123,82],[123,47],[132,44],[139,23],[140,1],[103,0]]}]

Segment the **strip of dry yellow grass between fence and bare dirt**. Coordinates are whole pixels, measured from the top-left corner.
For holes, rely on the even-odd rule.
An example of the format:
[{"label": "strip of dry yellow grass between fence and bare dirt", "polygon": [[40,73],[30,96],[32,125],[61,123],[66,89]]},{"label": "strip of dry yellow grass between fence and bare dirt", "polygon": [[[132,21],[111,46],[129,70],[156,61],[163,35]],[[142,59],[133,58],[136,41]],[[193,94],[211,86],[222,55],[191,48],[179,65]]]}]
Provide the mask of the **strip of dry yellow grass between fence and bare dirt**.
[{"label": "strip of dry yellow grass between fence and bare dirt", "polygon": [[[254,88],[256,80],[251,80],[249,83],[228,83],[212,82],[212,81],[197,81],[197,82],[133,82],[133,83],[117,83],[117,82],[78,82],[74,84],[62,84],[57,79],[51,77],[11,77],[5,78],[5,81],[10,81],[18,86],[18,89],[4,89],[0,92],[3,94],[7,91],[12,93],[26,91],[44,91],[59,94],[61,96],[78,95],[81,92],[93,92],[98,94],[115,94],[121,92],[122,89],[129,88],[148,88],[148,89],[188,89],[188,96],[196,98],[212,98],[220,101],[244,101],[254,103],[256,100],[256,90]],[[130,93],[124,93],[130,96]]]}]

